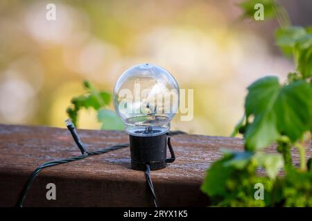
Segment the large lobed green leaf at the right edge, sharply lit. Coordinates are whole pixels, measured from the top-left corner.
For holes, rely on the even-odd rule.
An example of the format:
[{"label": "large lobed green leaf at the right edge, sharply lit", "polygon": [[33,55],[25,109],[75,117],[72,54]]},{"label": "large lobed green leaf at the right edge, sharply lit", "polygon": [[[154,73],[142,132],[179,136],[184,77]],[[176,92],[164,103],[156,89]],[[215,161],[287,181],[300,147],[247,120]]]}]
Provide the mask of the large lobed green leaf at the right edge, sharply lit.
[{"label": "large lobed green leaf at the right edge, sharply lit", "polygon": [[263,77],[248,87],[246,117],[253,116],[245,133],[250,151],[268,146],[280,135],[292,142],[311,128],[312,88],[306,81],[279,85],[277,77]]}]

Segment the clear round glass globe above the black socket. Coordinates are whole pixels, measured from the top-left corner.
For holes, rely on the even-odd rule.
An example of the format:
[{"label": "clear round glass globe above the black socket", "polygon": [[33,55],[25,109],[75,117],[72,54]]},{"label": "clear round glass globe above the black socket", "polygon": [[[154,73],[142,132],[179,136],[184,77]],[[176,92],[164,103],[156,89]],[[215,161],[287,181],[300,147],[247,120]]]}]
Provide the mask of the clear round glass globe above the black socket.
[{"label": "clear round glass globe above the black socket", "polygon": [[133,66],[114,86],[114,108],[130,135],[168,132],[179,107],[179,86],[167,70],[153,64]]}]

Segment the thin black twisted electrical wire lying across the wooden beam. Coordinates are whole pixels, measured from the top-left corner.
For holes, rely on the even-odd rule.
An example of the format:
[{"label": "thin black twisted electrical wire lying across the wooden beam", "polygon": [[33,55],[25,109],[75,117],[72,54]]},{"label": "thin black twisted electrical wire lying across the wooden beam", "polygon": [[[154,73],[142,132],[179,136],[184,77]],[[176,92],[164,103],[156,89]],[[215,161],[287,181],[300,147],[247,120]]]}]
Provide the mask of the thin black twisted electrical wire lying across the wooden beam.
[{"label": "thin black twisted electrical wire lying across the wooden beam", "polygon": [[[42,171],[43,169],[45,169],[47,167],[51,167],[51,166],[57,166],[60,164],[66,164],[68,162],[83,160],[86,157],[89,157],[92,155],[99,155],[99,154],[107,153],[110,151],[116,151],[116,150],[119,150],[121,148],[128,147],[130,145],[130,144],[116,144],[114,146],[109,146],[107,148],[103,148],[99,151],[87,151],[87,149],[85,148],[85,145],[83,144],[83,142],[81,142],[80,137],[78,136],[78,133],[76,131],[75,126],[73,126],[73,122],[71,122],[70,119],[67,119],[66,125],[67,125],[67,128],[69,129],[69,131],[71,132],[73,140],[76,142],[76,144],[77,144],[77,146],[80,149],[82,154],[78,155],[76,157],[68,157],[68,158],[64,158],[64,159],[60,159],[60,160],[54,160],[51,162],[46,162],[46,163],[38,166],[37,169],[35,169],[35,171],[33,171],[33,173],[31,173],[31,175],[28,177],[28,180],[27,180],[26,184],[24,185],[23,190],[21,191],[21,193],[19,195],[19,200],[17,201],[17,204],[16,204],[17,207],[23,206],[29,189],[31,189],[31,186],[32,186],[33,182],[35,181],[35,178],[39,175],[40,171]],[[184,134],[184,132],[173,131],[170,133],[170,135],[178,135],[178,134]],[[157,207],[158,202],[157,202],[157,198],[155,195],[153,182],[150,178],[150,166],[148,164],[146,164],[146,182],[148,183],[148,187],[150,189],[150,192],[153,195],[153,202],[154,202],[155,206]]]}]

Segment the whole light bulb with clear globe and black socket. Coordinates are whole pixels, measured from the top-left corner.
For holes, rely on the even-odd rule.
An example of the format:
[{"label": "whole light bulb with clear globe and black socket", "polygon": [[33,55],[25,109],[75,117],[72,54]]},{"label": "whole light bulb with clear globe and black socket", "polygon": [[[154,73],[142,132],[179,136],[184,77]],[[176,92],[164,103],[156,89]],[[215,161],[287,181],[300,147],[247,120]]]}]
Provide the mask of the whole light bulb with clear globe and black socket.
[{"label": "whole light bulb with clear globe and black socket", "polygon": [[[167,70],[153,64],[133,66],[114,86],[114,108],[130,138],[131,168],[165,168],[175,160],[168,132],[179,107],[179,86]],[[171,158],[166,159],[166,148]]]}]

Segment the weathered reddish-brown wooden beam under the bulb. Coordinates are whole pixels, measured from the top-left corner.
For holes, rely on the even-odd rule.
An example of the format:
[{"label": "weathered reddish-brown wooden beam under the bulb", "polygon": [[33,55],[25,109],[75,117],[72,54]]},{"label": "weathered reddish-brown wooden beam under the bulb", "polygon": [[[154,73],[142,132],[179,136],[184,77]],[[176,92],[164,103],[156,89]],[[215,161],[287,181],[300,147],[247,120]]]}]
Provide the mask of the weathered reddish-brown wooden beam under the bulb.
[{"label": "weathered reddish-brown wooden beam under the bulb", "polygon": [[[118,131],[78,130],[89,151],[127,143]],[[151,176],[160,206],[206,206],[200,192],[205,170],[222,148],[242,150],[243,140],[202,135],[175,135],[177,159]],[[28,175],[40,164],[79,155],[67,129],[0,124],[0,206],[15,206]],[[269,152],[273,148],[268,148]],[[307,151],[312,155],[311,148]],[[293,151],[295,161],[298,153]],[[57,200],[46,200],[46,184],[56,185]],[[130,169],[130,150],[87,157],[44,169],[28,192],[24,206],[153,206],[143,171]]]}]

